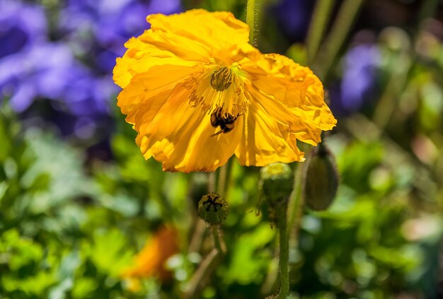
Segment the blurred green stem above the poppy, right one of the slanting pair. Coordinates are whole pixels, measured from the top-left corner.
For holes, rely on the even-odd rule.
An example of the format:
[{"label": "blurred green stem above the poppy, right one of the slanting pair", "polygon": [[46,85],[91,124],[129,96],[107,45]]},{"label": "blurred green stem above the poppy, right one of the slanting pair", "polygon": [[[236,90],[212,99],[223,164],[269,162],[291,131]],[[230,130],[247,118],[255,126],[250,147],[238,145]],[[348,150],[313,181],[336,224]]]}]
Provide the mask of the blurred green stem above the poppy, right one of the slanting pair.
[{"label": "blurred green stem above the poppy, right one of the slanting pair", "polygon": [[317,74],[321,79],[324,80],[328,76],[330,68],[333,66],[338,52],[340,52],[347,35],[350,33],[352,24],[355,18],[357,18],[363,2],[364,0],[345,0],[340,7],[333,28],[323,44],[323,51],[318,53],[316,66],[319,67]]}]

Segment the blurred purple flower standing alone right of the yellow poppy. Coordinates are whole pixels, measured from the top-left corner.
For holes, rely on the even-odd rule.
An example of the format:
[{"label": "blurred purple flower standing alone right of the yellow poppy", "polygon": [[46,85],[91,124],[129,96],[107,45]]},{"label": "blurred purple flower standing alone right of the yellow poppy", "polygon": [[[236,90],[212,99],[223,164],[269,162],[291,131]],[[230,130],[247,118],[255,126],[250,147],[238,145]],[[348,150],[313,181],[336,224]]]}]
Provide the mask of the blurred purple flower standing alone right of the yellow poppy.
[{"label": "blurred purple flower standing alone right of the yellow poppy", "polygon": [[372,101],[378,91],[380,60],[379,49],[372,44],[358,45],[345,54],[340,87],[330,90],[335,109],[356,112]]}]

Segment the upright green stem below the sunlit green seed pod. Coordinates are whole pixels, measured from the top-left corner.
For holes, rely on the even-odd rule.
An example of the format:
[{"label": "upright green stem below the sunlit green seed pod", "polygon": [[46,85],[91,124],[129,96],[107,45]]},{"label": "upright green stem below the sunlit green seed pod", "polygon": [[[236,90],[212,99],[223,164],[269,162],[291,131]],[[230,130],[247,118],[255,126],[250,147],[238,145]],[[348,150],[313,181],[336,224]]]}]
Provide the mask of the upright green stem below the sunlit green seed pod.
[{"label": "upright green stem below the sunlit green seed pod", "polygon": [[275,207],[277,228],[280,237],[280,292],[277,299],[284,299],[289,294],[289,241],[287,233],[287,202]]}]

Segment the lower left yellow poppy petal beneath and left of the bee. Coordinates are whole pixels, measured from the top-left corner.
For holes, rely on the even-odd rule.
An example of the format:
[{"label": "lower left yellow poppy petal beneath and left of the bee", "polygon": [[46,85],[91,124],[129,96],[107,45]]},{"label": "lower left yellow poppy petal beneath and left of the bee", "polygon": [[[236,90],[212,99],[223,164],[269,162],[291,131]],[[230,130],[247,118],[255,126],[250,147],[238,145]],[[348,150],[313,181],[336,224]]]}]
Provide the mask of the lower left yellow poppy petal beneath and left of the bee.
[{"label": "lower left yellow poppy petal beneath and left of the bee", "polygon": [[167,171],[213,171],[234,154],[240,141],[242,126],[239,119],[226,134],[211,126],[210,115],[190,107],[183,100],[190,91],[176,88],[152,122],[139,134],[144,136],[144,148],[163,163]]}]

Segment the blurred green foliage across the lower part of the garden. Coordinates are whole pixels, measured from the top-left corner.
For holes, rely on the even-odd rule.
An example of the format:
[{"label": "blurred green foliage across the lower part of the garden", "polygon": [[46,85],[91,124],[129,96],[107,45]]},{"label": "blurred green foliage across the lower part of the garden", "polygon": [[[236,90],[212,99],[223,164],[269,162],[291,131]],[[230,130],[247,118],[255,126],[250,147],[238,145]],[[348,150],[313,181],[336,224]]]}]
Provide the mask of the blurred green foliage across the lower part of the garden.
[{"label": "blurred green foliage across the lower part of the garden", "polygon": [[[53,134],[23,131],[6,107],[0,120],[6,141],[0,197],[4,298],[176,296],[171,285],[162,289],[150,279],[144,291],[133,292],[120,274],[160,223],[176,223],[185,250],[195,223],[191,189],[201,175],[161,172],[158,163],[143,160],[127,133],[113,138],[115,161],[88,166],[78,148]],[[420,175],[415,162],[389,160],[389,146],[380,140],[336,134],[328,145],[337,155],[342,184],[328,211],[306,211],[301,221],[299,247],[290,254],[292,288],[302,298],[432,293],[443,221],[418,210],[420,202],[412,204]],[[276,233],[259,201],[258,168],[231,163],[227,254],[202,296],[259,298],[275,291]],[[437,207],[435,199],[424,208]],[[425,231],[410,235],[406,225],[420,225],[425,215]],[[200,254],[210,243],[205,238]],[[171,261],[178,288],[186,286],[201,257],[179,254]]]}]

